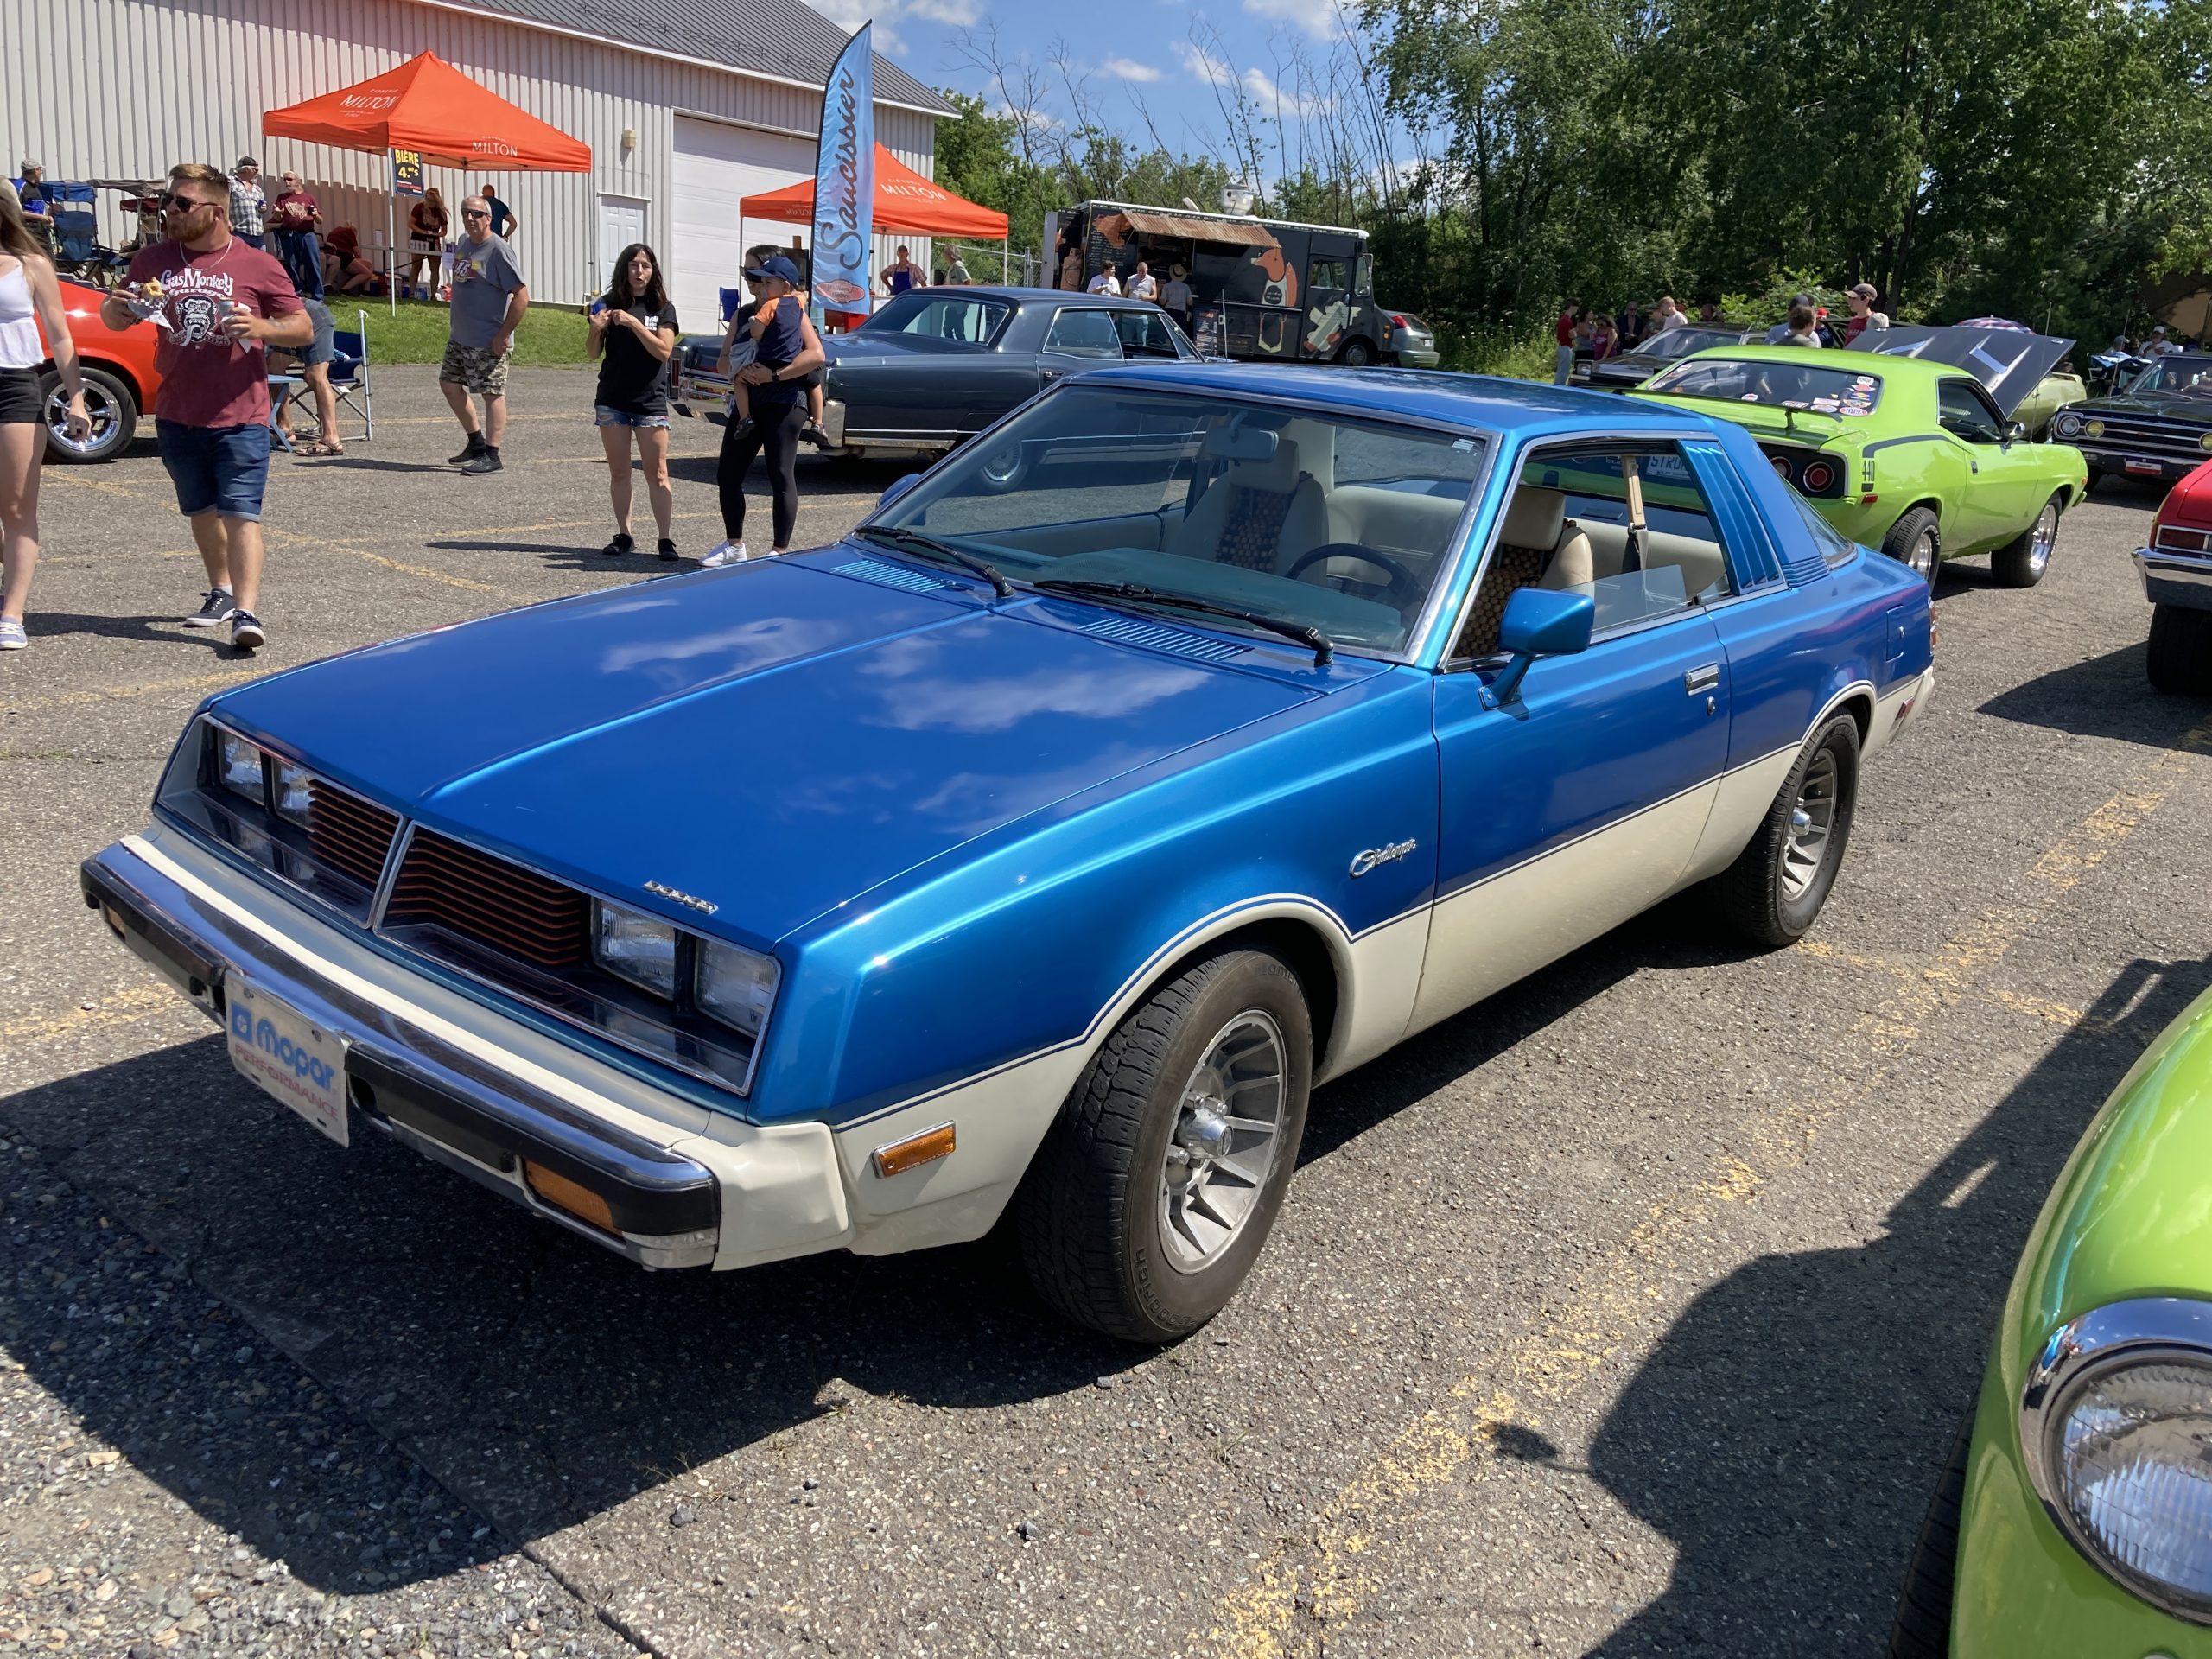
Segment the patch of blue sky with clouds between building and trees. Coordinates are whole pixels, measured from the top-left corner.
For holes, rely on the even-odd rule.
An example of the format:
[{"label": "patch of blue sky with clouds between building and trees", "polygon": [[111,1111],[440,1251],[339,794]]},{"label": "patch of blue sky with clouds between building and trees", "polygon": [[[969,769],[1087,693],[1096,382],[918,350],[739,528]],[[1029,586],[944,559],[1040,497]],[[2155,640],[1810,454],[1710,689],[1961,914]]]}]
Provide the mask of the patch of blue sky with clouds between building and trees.
[{"label": "patch of blue sky with clouds between building and trees", "polygon": [[[1009,0],[814,0],[858,29],[874,18],[876,49],[931,86],[1009,102],[978,53],[1013,66],[1053,119],[1077,100],[1099,119],[1172,150],[1228,159],[1223,97],[1245,100],[1263,126],[1316,115],[1329,102],[1329,62],[1343,18],[1334,0],[1110,0],[1108,4],[1011,4]],[[1026,69],[1026,77],[1024,71]],[[1073,91],[1071,91],[1073,75]],[[1272,170],[1272,168],[1270,168]],[[1217,204],[1206,204],[1217,206]]]}]

